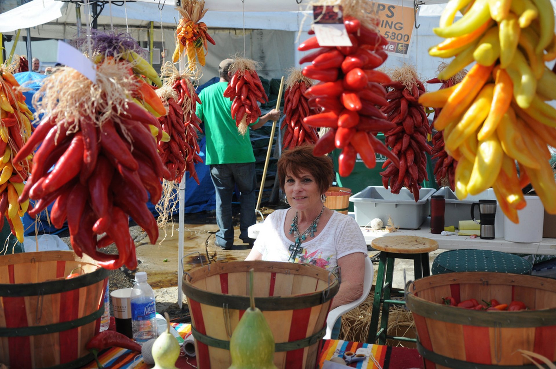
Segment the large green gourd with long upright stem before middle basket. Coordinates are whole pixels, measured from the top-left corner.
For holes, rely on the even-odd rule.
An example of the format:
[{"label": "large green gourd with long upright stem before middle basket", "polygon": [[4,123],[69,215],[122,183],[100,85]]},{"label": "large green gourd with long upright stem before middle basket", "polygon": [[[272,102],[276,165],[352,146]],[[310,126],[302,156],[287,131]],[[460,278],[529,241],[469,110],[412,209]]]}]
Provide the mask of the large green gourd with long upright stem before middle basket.
[{"label": "large green gourd with long upright stem before middle basket", "polygon": [[253,270],[250,271],[249,307],[230,339],[232,365],[228,369],[278,369],[274,365],[274,336],[262,312],[255,307]]}]

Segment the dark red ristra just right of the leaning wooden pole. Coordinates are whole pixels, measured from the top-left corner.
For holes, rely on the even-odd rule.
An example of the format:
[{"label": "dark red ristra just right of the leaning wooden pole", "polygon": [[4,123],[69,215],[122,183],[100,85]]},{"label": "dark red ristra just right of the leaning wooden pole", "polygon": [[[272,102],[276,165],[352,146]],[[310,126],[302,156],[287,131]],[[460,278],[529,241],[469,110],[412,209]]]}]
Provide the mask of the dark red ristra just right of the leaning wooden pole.
[{"label": "dark red ristra just right of the leaning wooden pole", "polygon": [[307,126],[303,119],[315,113],[309,107],[309,102],[304,93],[312,85],[312,80],[305,77],[300,69],[291,68],[286,80],[284,91],[284,133],[283,148],[294,148],[304,143],[314,144],[319,139],[315,127]]}]

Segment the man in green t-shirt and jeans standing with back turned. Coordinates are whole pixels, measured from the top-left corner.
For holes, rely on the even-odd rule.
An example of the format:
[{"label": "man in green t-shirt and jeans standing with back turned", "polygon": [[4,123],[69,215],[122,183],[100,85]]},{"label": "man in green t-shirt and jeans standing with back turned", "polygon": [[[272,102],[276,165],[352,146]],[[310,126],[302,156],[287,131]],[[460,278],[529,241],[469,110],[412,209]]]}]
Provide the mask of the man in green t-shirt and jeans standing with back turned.
[{"label": "man in green t-shirt and jeans standing with back turned", "polygon": [[[234,245],[232,225],[232,195],[234,187],[240,191],[240,239],[252,245],[247,228],[256,222],[255,215],[255,156],[249,130],[245,135],[237,132],[235,119],[231,116],[232,102],[224,97],[224,90],[232,77],[230,66],[233,59],[225,59],[219,65],[220,82],[204,88],[199,94],[197,116],[205,123],[206,159],[210,165],[212,183],[216,190],[216,245],[230,250]],[[262,127],[267,121],[280,118],[280,111],[272,109],[251,124],[251,129]]]}]

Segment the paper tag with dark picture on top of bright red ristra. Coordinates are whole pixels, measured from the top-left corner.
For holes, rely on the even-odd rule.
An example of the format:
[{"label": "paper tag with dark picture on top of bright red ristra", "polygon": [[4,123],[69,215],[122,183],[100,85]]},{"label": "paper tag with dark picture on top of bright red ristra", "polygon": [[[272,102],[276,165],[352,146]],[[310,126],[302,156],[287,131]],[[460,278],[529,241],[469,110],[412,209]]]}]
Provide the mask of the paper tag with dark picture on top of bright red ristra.
[{"label": "paper tag with dark picture on top of bright red ristra", "polygon": [[312,26],[320,46],[351,46],[341,6],[315,5],[313,18]]}]

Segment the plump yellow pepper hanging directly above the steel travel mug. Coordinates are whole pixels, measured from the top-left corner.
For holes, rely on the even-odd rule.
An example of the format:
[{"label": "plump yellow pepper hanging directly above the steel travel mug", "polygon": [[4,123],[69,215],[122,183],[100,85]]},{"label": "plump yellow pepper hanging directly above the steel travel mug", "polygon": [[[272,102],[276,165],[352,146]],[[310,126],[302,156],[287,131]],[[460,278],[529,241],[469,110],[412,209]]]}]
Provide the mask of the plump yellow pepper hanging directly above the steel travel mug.
[{"label": "plump yellow pepper hanging directly above the steel travel mug", "polygon": [[502,167],[503,155],[504,152],[497,136],[493,135],[484,141],[479,141],[473,171],[471,171],[467,184],[469,195],[478,195],[492,187]]}]

